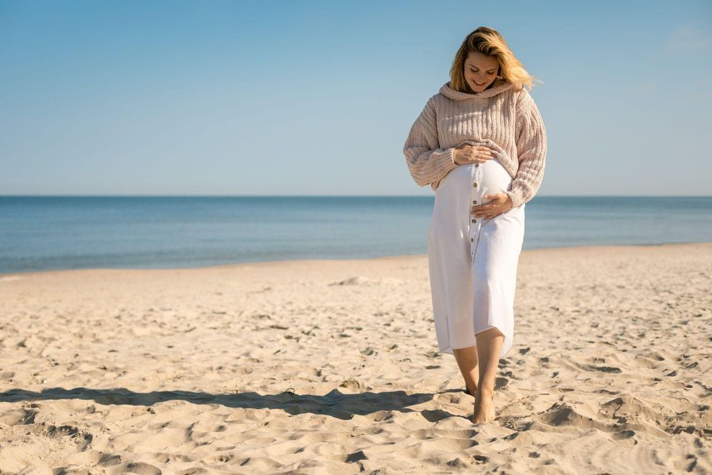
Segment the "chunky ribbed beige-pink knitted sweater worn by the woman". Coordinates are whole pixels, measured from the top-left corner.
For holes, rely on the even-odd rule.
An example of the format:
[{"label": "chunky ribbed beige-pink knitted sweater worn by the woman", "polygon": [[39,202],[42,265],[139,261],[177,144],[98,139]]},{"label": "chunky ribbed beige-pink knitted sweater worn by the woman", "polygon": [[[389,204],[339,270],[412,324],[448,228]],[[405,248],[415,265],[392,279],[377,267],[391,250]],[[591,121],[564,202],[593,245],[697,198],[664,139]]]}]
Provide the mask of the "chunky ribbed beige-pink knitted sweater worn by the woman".
[{"label": "chunky ribbed beige-pink knitted sweater worn by the woman", "polygon": [[445,83],[415,120],[403,147],[410,174],[433,190],[452,169],[455,147],[486,145],[513,178],[506,192],[513,207],[528,202],[544,177],[546,129],[539,109],[522,88],[496,79],[481,93],[461,93]]}]

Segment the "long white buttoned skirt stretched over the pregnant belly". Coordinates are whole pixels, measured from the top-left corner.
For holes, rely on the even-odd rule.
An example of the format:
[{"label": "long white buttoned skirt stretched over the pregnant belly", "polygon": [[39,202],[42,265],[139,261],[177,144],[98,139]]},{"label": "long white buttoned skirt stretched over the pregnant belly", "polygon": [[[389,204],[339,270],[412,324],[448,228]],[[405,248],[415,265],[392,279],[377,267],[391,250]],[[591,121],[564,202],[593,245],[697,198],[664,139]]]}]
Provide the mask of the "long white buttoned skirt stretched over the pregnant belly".
[{"label": "long white buttoned skirt stretched over the pregnant belly", "polygon": [[511,189],[512,177],[495,158],[459,165],[435,192],[428,228],[430,288],[439,350],[476,345],[475,335],[498,328],[500,357],[512,348],[517,264],[524,240],[524,207],[492,219],[470,214],[483,195]]}]

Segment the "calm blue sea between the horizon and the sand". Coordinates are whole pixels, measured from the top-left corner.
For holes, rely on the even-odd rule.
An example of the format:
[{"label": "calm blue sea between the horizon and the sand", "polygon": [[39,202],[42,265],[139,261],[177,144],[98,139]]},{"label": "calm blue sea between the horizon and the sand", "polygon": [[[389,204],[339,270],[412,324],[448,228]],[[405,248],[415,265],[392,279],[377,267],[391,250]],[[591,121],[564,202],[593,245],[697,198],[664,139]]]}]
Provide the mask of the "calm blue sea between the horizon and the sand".
[{"label": "calm blue sea between the horizon and the sand", "polygon": [[[426,254],[434,196],[0,197],[0,273]],[[712,241],[712,197],[535,197],[523,249]]]}]

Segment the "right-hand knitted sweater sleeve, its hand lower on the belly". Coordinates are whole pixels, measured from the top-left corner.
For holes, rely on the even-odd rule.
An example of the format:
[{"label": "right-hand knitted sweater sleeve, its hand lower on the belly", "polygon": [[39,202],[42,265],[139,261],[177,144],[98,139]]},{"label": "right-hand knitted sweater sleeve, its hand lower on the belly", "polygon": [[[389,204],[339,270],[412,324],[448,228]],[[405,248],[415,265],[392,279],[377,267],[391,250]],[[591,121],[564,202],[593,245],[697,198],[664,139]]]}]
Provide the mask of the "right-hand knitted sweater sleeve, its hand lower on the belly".
[{"label": "right-hand knitted sweater sleeve, its hand lower on the belly", "polygon": [[511,189],[506,192],[516,208],[534,197],[544,177],[546,160],[546,128],[536,103],[530,105],[516,119],[516,144],[519,168]]}]

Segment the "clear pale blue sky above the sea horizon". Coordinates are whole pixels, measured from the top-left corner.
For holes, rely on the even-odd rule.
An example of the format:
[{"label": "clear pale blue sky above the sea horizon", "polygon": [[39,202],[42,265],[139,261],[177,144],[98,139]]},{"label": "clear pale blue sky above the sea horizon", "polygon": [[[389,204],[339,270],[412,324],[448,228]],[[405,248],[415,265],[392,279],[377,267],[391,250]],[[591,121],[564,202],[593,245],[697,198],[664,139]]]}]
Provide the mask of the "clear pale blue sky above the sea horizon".
[{"label": "clear pale blue sky above the sea horizon", "polygon": [[0,0],[0,194],[431,195],[403,143],[478,26],[543,81],[540,196],[712,194],[709,0]]}]

